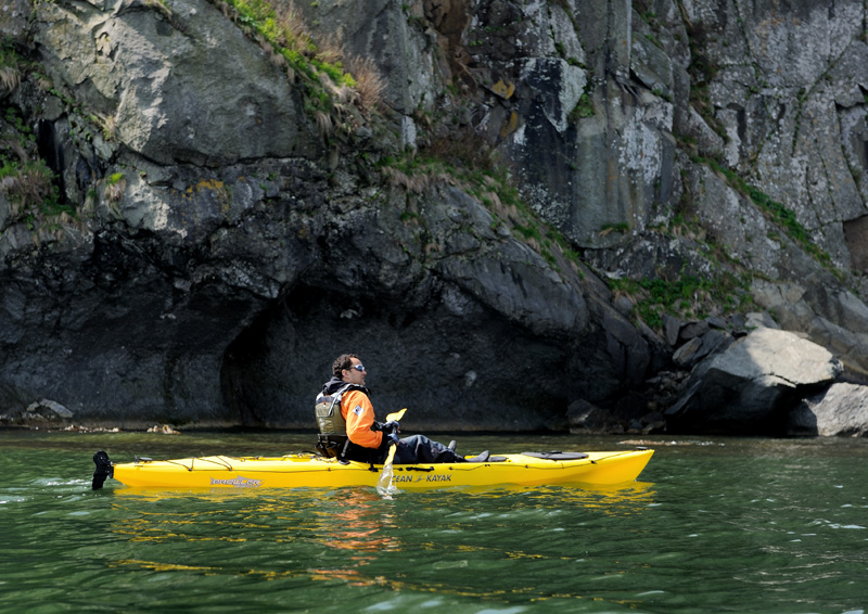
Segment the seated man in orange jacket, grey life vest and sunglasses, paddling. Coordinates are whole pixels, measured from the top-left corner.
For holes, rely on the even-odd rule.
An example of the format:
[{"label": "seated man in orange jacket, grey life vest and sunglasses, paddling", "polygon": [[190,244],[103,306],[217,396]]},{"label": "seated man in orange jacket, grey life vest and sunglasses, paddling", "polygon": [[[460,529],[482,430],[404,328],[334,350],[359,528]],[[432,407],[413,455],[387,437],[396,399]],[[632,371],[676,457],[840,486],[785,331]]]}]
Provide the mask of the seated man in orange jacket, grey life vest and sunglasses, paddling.
[{"label": "seated man in orange jacket, grey life vest and sunglasses, paddling", "polygon": [[455,452],[455,444],[444,446],[424,435],[398,438],[398,423],[374,420],[370,391],[365,386],[368,371],[355,354],[342,354],[332,364],[332,379],[317,396],[317,425],[327,456],[361,462],[381,463],[388,446],[396,445],[395,464],[439,462],[485,462],[488,452],[465,459]]}]

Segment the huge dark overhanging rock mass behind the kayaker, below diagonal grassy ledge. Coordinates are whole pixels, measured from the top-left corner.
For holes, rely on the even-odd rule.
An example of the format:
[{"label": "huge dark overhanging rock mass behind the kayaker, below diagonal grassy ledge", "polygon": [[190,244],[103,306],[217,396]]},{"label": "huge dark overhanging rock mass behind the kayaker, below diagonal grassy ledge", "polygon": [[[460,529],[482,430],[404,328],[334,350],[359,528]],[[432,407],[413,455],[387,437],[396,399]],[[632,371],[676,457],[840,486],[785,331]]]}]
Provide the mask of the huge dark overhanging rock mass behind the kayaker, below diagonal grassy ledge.
[{"label": "huge dark overhanging rock mass behind the kayaker, below diagonal grassy ledge", "polygon": [[[346,106],[356,128],[328,144],[306,86],[220,11],[169,9],[38,8],[56,91],[114,124],[76,140],[84,112],[35,82],[13,93],[44,97],[64,195],[87,216],[36,229],[38,248],[5,223],[3,405],[42,391],[91,422],[309,427],[331,360],[355,349],[378,405],[411,397],[418,426],[564,428],[566,398],[641,381],[642,334],[580,263],[521,240],[518,212],[365,163],[401,146],[370,140],[387,119]],[[565,364],[599,376],[565,381]]]}]

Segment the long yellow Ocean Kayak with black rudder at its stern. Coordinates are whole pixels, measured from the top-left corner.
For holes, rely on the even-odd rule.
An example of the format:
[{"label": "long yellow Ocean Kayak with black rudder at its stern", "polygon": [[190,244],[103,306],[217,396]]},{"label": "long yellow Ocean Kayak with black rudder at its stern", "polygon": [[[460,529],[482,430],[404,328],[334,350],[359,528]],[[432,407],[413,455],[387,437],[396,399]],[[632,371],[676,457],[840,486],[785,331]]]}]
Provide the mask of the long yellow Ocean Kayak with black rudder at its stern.
[{"label": "long yellow Ocean Kayak with black rudder at its stern", "polygon": [[[522,452],[493,456],[486,462],[396,464],[398,489],[516,484],[588,484],[605,486],[635,481],[653,450],[609,452]],[[337,461],[310,453],[283,457],[196,457],[137,459],[112,463],[104,451],[93,456],[93,488],[106,477],[140,488],[341,488],[376,486],[383,465]]]}]

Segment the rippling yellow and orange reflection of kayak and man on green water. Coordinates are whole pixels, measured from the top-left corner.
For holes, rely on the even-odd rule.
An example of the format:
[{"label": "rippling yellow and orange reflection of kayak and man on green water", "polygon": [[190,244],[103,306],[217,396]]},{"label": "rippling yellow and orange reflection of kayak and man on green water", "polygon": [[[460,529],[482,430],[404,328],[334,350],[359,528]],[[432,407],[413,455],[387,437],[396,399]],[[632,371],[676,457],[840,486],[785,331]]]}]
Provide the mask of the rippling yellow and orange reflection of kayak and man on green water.
[{"label": "rippling yellow and orange reflection of kayak and man on green water", "polygon": [[[575,554],[558,547],[576,530],[576,513],[589,514],[587,530],[607,517],[641,516],[654,504],[654,485],[634,483],[595,490],[502,486],[447,491],[406,491],[383,498],[375,489],[294,489],[161,491],[118,488],[112,494],[112,533],[138,555],[108,563],[116,568],[243,574],[266,579],[297,578],[390,591],[462,597],[525,594],[533,599],[576,598],[574,590],[535,588],[501,576],[478,586],[478,574],[529,563],[541,573],[575,564]],[[526,539],[528,529],[547,539]],[[585,530],[585,528],[583,528]],[[286,551],[279,550],[284,545]],[[162,546],[162,548],[151,548]],[[215,548],[234,547],[215,561]],[[255,549],[251,566],[244,552]],[[264,564],[261,550],[266,557]],[[151,553],[143,558],[143,552]],[[207,558],[199,553],[209,552]],[[227,552],[230,552],[227,550]],[[410,567],[395,567],[405,557]],[[283,564],[277,561],[283,560]],[[563,573],[561,571],[560,573]],[[434,581],[434,577],[448,578]],[[523,586],[516,586],[516,581]],[[433,584],[432,584],[433,583]]]}]

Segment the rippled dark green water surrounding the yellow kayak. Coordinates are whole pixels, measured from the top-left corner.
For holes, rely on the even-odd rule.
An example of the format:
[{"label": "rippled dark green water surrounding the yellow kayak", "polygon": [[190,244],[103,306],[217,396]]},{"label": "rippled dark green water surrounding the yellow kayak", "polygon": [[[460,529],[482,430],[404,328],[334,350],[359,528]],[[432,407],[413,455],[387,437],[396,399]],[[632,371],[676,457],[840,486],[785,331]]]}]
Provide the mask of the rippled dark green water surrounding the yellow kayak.
[{"label": "rippled dark green water surrounding the yellow kayak", "polygon": [[[448,438],[444,436],[444,438]],[[864,613],[868,440],[656,437],[616,490],[93,493],[91,456],[297,434],[0,432],[0,612]],[[605,437],[460,437],[618,449]]]}]

